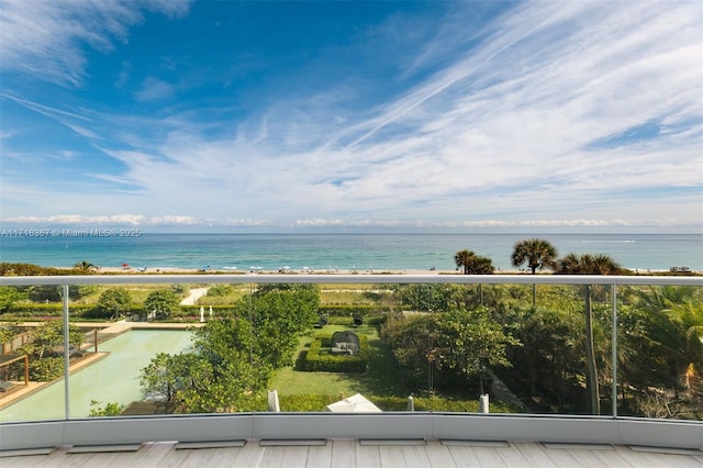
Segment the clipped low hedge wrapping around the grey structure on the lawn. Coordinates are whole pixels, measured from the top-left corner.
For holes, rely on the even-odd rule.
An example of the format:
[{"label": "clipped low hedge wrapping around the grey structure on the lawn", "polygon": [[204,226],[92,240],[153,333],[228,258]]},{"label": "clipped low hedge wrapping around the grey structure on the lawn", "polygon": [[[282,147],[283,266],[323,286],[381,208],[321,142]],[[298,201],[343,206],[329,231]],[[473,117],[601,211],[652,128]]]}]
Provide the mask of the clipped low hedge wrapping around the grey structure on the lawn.
[{"label": "clipped low hedge wrapping around the grey structure on the lawn", "polygon": [[332,347],[332,335],[317,335],[302,359],[302,370],[309,372],[366,372],[368,367],[369,339],[359,337],[359,354],[356,356],[335,356],[323,352]]}]

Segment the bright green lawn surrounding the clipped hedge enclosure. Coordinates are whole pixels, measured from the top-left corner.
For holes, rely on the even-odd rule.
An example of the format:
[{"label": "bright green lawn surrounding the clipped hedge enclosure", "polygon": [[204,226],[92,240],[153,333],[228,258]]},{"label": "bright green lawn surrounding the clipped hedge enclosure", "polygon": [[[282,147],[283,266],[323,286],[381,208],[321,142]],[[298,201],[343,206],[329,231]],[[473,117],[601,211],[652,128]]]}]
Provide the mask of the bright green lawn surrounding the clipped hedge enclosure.
[{"label": "bright green lawn surrounding the clipped hedge enclosure", "polygon": [[323,328],[315,330],[315,333],[310,336],[301,338],[298,354],[310,346],[314,334],[333,334],[344,330],[352,330],[359,335],[368,336],[370,357],[367,372],[303,372],[294,370],[291,366],[275,374],[270,385],[271,389],[277,389],[280,394],[410,394],[410,390],[401,383],[401,376],[393,365],[390,347],[379,337],[378,328],[375,326],[326,325]]}]

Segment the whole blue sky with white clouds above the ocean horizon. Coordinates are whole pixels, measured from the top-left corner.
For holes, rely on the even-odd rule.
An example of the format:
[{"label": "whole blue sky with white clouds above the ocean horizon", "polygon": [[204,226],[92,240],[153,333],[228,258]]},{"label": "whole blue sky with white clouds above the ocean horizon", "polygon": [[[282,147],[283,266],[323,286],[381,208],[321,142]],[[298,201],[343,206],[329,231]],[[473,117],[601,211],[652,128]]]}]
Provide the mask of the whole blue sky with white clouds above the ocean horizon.
[{"label": "whole blue sky with white clouds above the ocean horizon", "polygon": [[4,226],[703,225],[703,3],[0,0]]}]

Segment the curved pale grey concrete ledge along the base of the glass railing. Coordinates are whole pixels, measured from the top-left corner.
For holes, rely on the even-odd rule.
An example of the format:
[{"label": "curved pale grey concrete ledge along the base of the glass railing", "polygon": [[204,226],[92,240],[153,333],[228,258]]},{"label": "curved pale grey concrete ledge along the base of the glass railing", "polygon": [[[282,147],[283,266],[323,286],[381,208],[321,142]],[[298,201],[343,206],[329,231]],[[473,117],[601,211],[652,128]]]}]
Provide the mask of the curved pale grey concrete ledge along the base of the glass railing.
[{"label": "curved pale grey concrete ledge along the base of the glass railing", "polygon": [[59,445],[123,445],[246,439],[443,439],[703,447],[703,424],[691,421],[513,414],[243,413],[103,417],[0,425],[0,450]]}]

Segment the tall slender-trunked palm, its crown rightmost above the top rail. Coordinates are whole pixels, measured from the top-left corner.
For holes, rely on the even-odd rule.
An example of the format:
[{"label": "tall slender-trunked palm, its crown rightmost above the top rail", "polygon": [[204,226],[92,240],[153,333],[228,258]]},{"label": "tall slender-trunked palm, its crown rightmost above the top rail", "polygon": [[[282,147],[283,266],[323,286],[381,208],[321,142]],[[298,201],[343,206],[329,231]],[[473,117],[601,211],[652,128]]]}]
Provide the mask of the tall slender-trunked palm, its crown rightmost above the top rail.
[{"label": "tall slender-trunked palm, its crown rightmost above the top rail", "polygon": [[[623,272],[610,255],[569,254],[557,263],[559,275],[618,275]],[[601,413],[601,395],[598,383],[598,368],[595,366],[595,347],[593,345],[593,308],[591,307],[591,285],[583,287],[585,315],[585,386],[589,390],[590,406],[593,414]]]}]

